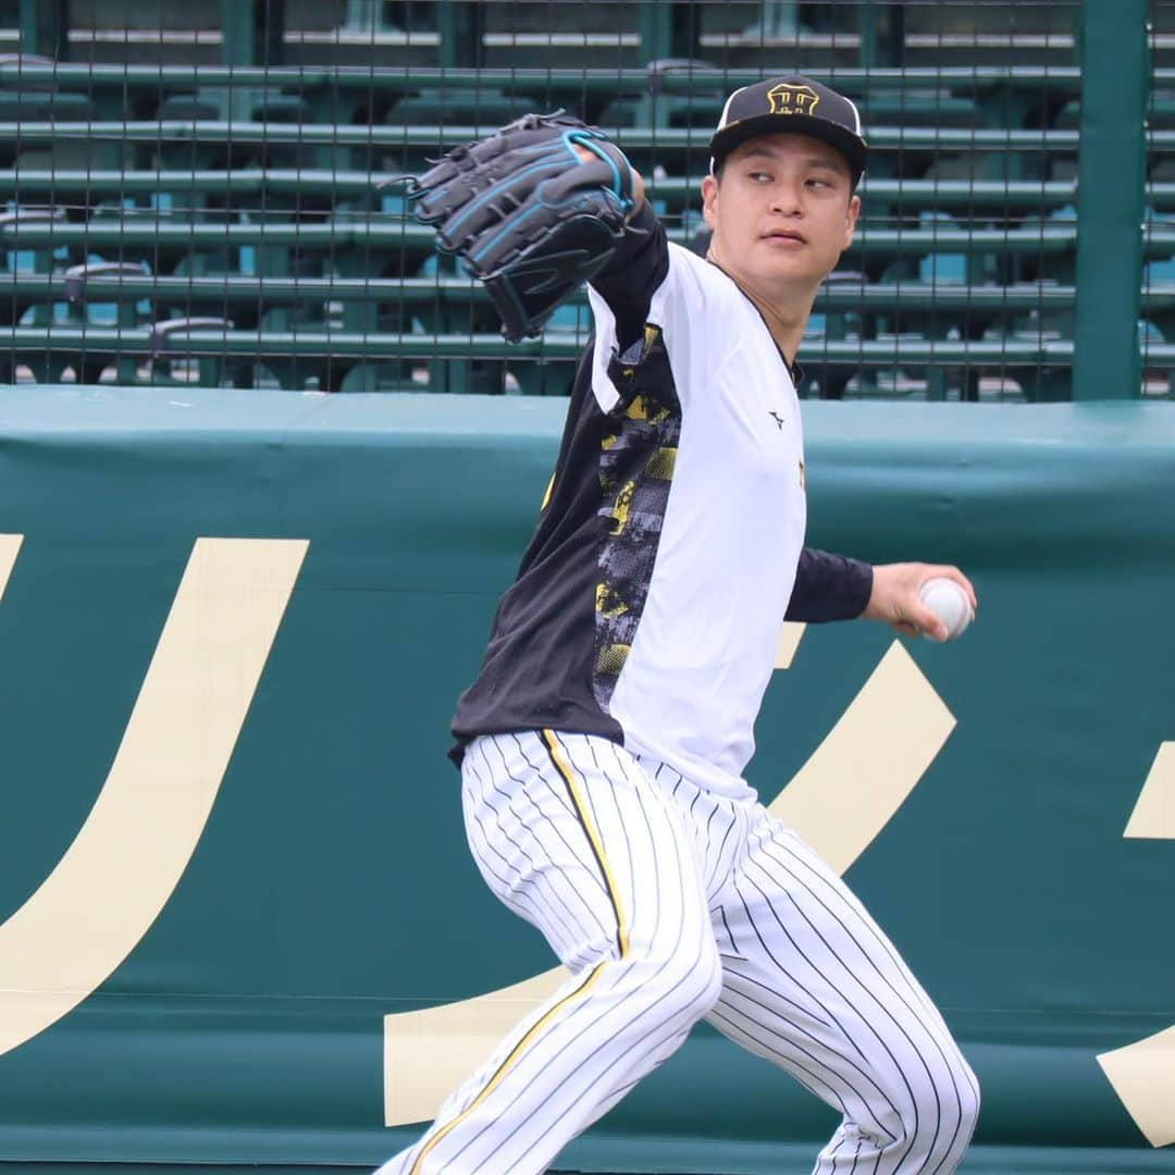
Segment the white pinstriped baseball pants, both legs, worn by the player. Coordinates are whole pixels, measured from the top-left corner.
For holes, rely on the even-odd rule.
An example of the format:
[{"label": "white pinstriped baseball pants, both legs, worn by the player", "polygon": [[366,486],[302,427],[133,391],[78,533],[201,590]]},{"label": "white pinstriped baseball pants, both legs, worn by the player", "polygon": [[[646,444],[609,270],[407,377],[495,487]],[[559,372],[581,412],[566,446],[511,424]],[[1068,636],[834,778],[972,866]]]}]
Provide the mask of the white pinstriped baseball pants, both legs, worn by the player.
[{"label": "white pinstriped baseball pants, both legs, worn by the player", "polygon": [[572,978],[378,1175],[531,1175],[707,1019],[841,1113],[815,1175],[949,1173],[979,1087],[847,887],[766,810],[605,739],[485,736],[465,826]]}]

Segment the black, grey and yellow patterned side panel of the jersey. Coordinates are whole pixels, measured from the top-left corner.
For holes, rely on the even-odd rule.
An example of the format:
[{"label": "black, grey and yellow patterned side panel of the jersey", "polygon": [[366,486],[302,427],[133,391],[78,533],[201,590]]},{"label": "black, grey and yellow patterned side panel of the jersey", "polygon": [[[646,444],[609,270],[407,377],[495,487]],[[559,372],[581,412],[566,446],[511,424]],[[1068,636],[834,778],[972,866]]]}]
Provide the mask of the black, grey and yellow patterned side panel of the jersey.
[{"label": "black, grey and yellow patterned side panel of the jersey", "polygon": [[596,584],[596,650],[592,689],[607,710],[632,647],[657,559],[662,521],[682,432],[682,405],[660,328],[609,364],[620,401],[603,439],[600,518],[606,537]]}]

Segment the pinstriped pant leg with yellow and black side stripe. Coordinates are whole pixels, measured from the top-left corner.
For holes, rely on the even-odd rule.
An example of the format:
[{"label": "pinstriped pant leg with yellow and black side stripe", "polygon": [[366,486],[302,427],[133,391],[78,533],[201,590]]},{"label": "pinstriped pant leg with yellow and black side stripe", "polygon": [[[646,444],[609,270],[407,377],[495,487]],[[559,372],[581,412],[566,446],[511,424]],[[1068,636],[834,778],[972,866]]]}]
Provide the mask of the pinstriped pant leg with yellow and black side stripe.
[{"label": "pinstriped pant leg with yellow and black side stripe", "polygon": [[613,744],[485,737],[463,766],[470,847],[571,980],[380,1175],[531,1175],[666,1060],[720,965],[685,821]]}]

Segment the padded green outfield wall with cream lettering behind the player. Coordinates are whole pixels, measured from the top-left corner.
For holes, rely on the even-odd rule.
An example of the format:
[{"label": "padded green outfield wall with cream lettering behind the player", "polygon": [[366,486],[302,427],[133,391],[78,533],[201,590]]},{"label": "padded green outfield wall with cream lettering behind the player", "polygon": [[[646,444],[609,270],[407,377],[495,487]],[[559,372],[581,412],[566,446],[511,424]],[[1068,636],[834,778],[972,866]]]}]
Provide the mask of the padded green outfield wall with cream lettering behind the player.
[{"label": "padded green outfield wall with cream lettering behind the player", "polygon": [[[5,389],[0,1162],[374,1166],[549,982],[445,750],[564,407]],[[1175,1170],[1175,407],[804,411],[813,544],[981,606],[790,629],[748,778],[944,1008],[966,1170]],[[831,1127],[701,1028],[565,1164]]]}]

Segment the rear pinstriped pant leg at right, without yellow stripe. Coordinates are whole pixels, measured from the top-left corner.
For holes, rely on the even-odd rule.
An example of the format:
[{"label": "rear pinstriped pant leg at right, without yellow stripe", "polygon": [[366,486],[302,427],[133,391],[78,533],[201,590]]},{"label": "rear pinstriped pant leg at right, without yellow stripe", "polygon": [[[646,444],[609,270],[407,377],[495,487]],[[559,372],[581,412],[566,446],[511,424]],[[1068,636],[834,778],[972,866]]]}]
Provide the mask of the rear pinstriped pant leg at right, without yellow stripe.
[{"label": "rear pinstriped pant leg at right, without yellow stripe", "polygon": [[714,929],[710,1022],[842,1115],[815,1175],[954,1171],[979,1113],[974,1074],[844,881],[761,808]]}]

